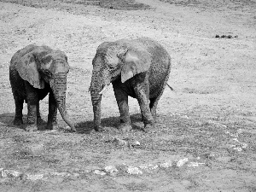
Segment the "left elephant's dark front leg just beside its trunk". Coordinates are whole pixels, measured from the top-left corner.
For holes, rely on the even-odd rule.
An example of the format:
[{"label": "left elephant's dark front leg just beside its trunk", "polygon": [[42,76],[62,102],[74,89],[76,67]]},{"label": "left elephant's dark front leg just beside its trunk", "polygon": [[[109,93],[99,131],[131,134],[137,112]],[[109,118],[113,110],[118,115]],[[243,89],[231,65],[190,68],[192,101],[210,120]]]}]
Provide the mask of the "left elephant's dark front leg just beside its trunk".
[{"label": "left elephant's dark front leg just beside its trunk", "polygon": [[47,129],[56,130],[58,129],[57,125],[57,103],[55,101],[54,94],[52,91],[49,91],[49,114],[48,114],[48,123]]}]

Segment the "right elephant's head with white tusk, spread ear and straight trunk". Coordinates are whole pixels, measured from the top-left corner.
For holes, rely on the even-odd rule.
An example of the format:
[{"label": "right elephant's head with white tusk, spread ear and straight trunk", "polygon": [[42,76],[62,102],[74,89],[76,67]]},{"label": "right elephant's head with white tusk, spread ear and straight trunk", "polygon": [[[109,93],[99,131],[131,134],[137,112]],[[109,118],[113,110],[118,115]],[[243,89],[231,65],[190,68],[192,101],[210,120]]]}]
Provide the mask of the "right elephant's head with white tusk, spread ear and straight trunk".
[{"label": "right elephant's head with white tusk, spread ear and straight trunk", "polygon": [[125,83],[138,73],[148,71],[151,55],[143,44],[136,41],[119,40],[106,42],[96,50],[92,61],[93,71],[90,95],[94,111],[94,128],[101,131],[102,92],[115,80]]}]

